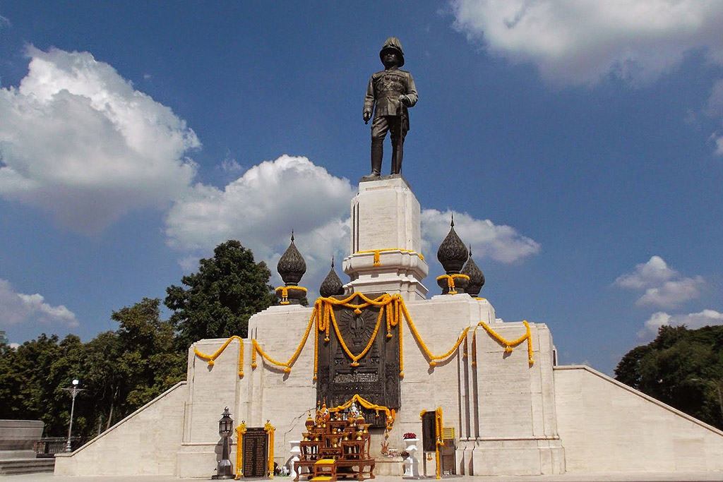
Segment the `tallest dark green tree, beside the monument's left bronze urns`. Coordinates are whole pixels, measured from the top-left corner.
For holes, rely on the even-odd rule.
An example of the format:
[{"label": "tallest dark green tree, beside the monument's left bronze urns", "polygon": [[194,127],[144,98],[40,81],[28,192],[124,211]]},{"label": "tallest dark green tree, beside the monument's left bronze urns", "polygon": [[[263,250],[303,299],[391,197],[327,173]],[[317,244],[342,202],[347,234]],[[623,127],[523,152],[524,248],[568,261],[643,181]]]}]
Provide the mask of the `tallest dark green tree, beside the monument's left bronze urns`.
[{"label": "tallest dark green tree, beside the monument's left bronze urns", "polygon": [[239,241],[216,246],[213,258],[201,259],[198,272],[182,278],[188,288],[166,289],[179,346],[186,349],[202,338],[246,337],[252,314],[273,303],[270,275],[266,264],[254,262],[253,253]]}]

